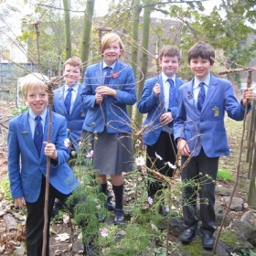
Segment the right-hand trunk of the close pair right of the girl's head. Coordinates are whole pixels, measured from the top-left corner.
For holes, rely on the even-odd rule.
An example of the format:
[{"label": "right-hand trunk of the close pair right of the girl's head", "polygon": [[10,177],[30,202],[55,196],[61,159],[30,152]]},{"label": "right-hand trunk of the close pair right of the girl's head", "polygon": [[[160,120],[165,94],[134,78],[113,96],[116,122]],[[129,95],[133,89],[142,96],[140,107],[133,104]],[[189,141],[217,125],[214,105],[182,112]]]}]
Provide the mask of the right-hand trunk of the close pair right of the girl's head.
[{"label": "right-hand trunk of the close pair right of the girl's head", "polygon": [[[143,40],[142,40],[142,59],[141,59],[141,70],[142,73],[139,74],[139,80],[140,82],[137,85],[137,100],[139,101],[143,88],[144,88],[144,80],[146,78],[147,74],[147,62],[148,62],[148,43],[149,43],[149,28],[150,28],[150,15],[152,11],[152,7],[150,6],[152,4],[152,0],[145,0],[144,1],[144,21],[143,21]],[[142,126],[143,123],[143,115],[135,111],[135,117],[134,117],[135,123],[138,128]]]}]

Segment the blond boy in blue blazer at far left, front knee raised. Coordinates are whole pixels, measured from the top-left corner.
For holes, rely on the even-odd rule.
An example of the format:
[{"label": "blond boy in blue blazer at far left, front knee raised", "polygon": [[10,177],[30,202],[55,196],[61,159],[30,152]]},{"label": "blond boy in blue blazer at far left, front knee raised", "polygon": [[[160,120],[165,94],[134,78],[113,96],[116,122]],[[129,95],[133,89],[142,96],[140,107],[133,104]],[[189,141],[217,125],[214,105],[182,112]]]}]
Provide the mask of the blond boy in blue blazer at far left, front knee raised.
[{"label": "blond boy in blue blazer at far left, front knee raised", "polygon": [[[79,186],[76,176],[67,164],[69,148],[66,144],[68,137],[66,120],[54,112],[51,143],[48,143],[49,112],[46,80],[48,78],[39,73],[29,74],[24,78],[22,94],[29,109],[10,120],[7,135],[11,195],[16,206],[27,208],[27,256],[42,255],[47,156],[51,159],[48,223],[55,197],[65,201]],[[49,226],[47,233],[49,240]],[[47,255],[49,255],[48,246]]]}]

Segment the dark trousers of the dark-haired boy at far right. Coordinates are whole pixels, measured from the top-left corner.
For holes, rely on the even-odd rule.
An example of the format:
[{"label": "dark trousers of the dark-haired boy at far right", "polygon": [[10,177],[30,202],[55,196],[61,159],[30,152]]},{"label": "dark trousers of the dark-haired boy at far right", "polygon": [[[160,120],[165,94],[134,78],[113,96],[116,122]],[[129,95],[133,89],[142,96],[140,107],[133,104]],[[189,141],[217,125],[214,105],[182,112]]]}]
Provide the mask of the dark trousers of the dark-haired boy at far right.
[{"label": "dark trousers of the dark-haired boy at far right", "polygon": [[[187,161],[182,156],[181,164]],[[202,234],[215,231],[215,181],[219,157],[210,158],[201,149],[199,155],[192,157],[181,171],[182,181],[186,184],[183,191],[183,217],[185,229],[197,229],[197,194],[199,195],[200,227]]]}]

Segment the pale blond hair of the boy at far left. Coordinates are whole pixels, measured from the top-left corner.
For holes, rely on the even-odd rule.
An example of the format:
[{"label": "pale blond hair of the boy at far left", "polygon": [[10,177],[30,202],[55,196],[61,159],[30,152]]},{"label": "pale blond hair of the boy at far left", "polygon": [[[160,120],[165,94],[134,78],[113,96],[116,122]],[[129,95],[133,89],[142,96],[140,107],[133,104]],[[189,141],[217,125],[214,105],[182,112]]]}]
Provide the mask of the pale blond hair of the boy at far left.
[{"label": "pale blond hair of the boy at far left", "polygon": [[43,91],[48,91],[46,81],[48,81],[48,77],[40,73],[31,73],[23,77],[20,86],[24,99],[27,98],[27,92],[30,90],[40,88]]}]

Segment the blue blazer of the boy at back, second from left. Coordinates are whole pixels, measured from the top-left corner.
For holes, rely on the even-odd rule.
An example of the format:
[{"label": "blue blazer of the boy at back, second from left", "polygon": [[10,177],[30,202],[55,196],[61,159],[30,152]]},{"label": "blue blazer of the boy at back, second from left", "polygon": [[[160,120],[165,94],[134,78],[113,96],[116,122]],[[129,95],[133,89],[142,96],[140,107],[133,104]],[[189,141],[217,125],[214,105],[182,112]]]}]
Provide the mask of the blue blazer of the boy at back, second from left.
[{"label": "blue blazer of the boy at back, second from left", "polygon": [[82,85],[78,87],[77,98],[73,104],[73,108],[68,114],[65,104],[64,104],[64,90],[65,87],[62,86],[59,89],[54,90],[54,98],[53,98],[53,105],[52,110],[54,112],[63,115],[67,121],[67,128],[69,130],[69,140],[71,144],[73,144],[74,149],[76,151],[79,150],[79,143],[81,139],[81,131],[82,131],[82,124],[84,122],[84,118],[87,112],[86,106],[81,102],[80,93],[82,91]]}]

